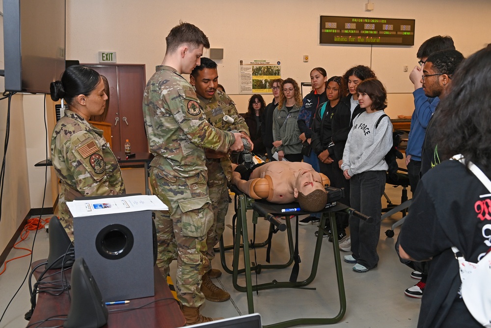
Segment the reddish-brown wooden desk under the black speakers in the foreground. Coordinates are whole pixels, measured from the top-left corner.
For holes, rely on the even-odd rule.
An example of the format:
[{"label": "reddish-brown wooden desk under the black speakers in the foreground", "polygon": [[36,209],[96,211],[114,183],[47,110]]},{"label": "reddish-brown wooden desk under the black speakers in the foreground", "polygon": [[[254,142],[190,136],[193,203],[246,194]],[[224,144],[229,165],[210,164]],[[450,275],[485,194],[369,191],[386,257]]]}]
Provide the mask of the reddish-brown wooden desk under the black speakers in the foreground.
[{"label": "reddish-brown wooden desk under the black speakers in the foreground", "polygon": [[[32,268],[35,268],[38,264],[45,262],[46,260],[36,261],[32,264]],[[44,271],[44,266],[36,269],[34,277],[39,278],[39,275]],[[60,269],[49,270],[48,274],[59,272]],[[66,279],[70,281],[71,269],[66,272]],[[104,325],[104,328],[120,328],[120,327],[144,327],[144,328],[176,328],[183,327],[186,324],[186,320],[182,315],[179,305],[172,296],[167,281],[160,273],[157,266],[155,266],[155,296],[146,298],[131,299],[128,304],[121,305],[109,305],[109,318],[108,323]],[[46,275],[45,275],[46,277]],[[56,274],[43,281],[59,281],[60,274]],[[122,288],[124,288],[122,286]],[[164,299],[166,298],[166,299]],[[144,306],[140,309],[135,309],[139,306],[143,306],[152,301],[155,303]],[[128,309],[128,311],[111,312],[116,309]],[[69,292],[63,292],[59,296],[52,296],[48,293],[39,293],[34,309],[34,313],[29,321],[29,325],[35,322],[43,321],[49,317],[55,316],[56,318],[63,318],[63,320],[47,321],[40,326],[35,327],[55,327],[63,325],[64,319],[70,310],[70,295]]]}]

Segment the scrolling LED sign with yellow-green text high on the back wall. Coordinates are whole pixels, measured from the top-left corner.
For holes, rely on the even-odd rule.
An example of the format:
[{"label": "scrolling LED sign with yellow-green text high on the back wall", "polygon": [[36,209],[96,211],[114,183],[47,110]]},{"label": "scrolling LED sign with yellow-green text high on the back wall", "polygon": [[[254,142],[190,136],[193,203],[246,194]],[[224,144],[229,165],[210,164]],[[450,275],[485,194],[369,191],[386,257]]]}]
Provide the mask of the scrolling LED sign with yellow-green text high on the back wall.
[{"label": "scrolling LED sign with yellow-green text high on the back wall", "polygon": [[414,20],[321,16],[321,44],[414,45]]}]

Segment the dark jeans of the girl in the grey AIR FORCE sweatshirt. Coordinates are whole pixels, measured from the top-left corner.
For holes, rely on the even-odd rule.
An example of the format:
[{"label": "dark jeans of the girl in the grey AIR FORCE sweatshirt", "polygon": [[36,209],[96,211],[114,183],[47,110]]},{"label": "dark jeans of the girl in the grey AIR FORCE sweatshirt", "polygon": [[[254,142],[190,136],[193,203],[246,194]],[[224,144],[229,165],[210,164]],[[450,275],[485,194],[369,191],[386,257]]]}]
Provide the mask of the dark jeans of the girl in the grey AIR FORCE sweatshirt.
[{"label": "dark jeans of the girl in the grey AIR FORCE sweatshirt", "polygon": [[355,216],[350,216],[351,251],[356,263],[366,268],[374,268],[379,262],[377,244],[380,237],[382,213],[382,194],[385,190],[385,171],[367,171],[350,179],[351,207],[371,216],[373,224],[368,224]]}]

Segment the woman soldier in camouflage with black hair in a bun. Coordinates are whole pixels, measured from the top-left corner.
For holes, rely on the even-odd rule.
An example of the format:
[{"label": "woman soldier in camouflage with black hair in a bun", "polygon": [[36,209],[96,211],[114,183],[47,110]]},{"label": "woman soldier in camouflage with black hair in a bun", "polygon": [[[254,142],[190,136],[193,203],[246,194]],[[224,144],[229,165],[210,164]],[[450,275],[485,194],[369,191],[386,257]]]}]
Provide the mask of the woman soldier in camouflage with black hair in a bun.
[{"label": "woman soldier in camouflage with black hair in a bun", "polygon": [[61,81],[51,84],[51,98],[54,101],[64,98],[70,108],[53,131],[51,159],[61,184],[60,221],[73,240],[73,216],[66,202],[83,196],[124,194],[125,188],[103,131],[88,122],[91,115],[102,114],[108,99],[99,73],[83,66],[70,66]]}]

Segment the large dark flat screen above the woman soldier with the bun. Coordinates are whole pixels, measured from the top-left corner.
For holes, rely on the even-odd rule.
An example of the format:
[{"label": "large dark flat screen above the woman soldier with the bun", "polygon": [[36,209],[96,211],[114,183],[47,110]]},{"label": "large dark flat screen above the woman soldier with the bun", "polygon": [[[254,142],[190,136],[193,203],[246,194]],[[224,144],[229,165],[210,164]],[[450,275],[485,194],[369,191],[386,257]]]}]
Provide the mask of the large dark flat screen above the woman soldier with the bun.
[{"label": "large dark flat screen above the woman soldier with the bun", "polygon": [[65,70],[65,0],[3,0],[5,90],[50,93]]}]

